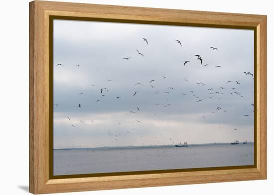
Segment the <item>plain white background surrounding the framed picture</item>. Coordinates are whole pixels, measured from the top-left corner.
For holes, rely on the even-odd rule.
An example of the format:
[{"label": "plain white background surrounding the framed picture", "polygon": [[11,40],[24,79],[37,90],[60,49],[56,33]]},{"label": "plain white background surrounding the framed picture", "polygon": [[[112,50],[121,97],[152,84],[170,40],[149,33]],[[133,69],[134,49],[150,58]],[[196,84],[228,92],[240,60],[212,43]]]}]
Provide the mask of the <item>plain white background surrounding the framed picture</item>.
[{"label": "plain white background surrounding the framed picture", "polygon": [[[60,0],[61,1],[61,0]],[[273,5],[270,0],[67,0],[268,15],[268,180],[70,193],[71,195],[270,194],[273,190]],[[0,169],[2,195],[28,193],[28,0],[0,1]],[[272,88],[272,89],[271,89]]]}]

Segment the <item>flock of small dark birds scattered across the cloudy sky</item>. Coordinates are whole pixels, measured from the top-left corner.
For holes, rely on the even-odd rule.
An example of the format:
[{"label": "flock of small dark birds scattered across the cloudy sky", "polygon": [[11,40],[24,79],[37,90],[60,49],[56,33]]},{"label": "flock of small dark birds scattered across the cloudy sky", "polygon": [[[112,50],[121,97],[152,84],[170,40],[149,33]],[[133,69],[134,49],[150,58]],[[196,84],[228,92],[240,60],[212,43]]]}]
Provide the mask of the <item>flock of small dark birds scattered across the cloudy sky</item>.
[{"label": "flock of small dark birds scattered across the cloudy sky", "polygon": [[[146,38],[142,38],[143,39],[143,41],[145,41],[145,43],[148,45],[148,40],[146,39]],[[183,45],[182,45],[182,41],[181,40],[177,40],[177,39],[175,39],[175,41],[177,41],[177,43],[181,46],[181,47],[183,47]],[[213,47],[213,46],[211,46],[210,47],[210,49],[212,49],[213,51],[218,51],[218,48],[216,48],[216,47]],[[144,55],[143,55],[143,53],[141,53],[138,49],[136,49],[136,51],[137,51],[137,55],[140,55],[141,57],[144,57]],[[201,57],[201,55],[199,55],[199,54],[196,54],[196,55],[194,55],[194,56],[196,56],[197,58],[197,60],[199,60],[199,62],[200,62],[200,65],[202,65],[202,66],[208,66],[209,64],[204,64],[203,65],[203,58]],[[130,60],[132,57],[124,57],[124,58],[122,58],[122,60]],[[190,63],[190,61],[189,60],[186,60],[183,64],[184,64],[184,67],[186,67],[186,65],[188,64],[188,63]],[[66,66],[65,65],[63,65],[63,64],[61,64],[61,63],[59,63],[59,64],[57,64],[56,66],[61,66],[61,67],[63,67],[63,68],[65,68]],[[222,66],[220,66],[220,65],[216,65],[215,66],[216,68],[222,68]],[[78,64],[78,65],[76,65],[76,68],[80,68],[80,65]],[[253,74],[251,73],[251,72],[244,72],[244,74],[245,75],[251,75],[252,76],[252,79],[254,79],[253,78]],[[166,79],[167,77],[166,76],[161,76],[161,78],[162,79]],[[111,82],[112,80],[111,79],[107,79],[107,81],[109,81],[109,82]],[[187,79],[184,79],[184,81],[185,82],[189,82],[189,80],[187,80]],[[155,88],[155,86],[153,85],[153,83],[155,83],[156,82],[156,80],[150,80],[150,81],[148,81],[147,82],[147,85],[149,85],[151,88]],[[229,83],[235,83],[236,85],[240,85],[241,83],[239,82],[239,81],[237,81],[237,80],[235,80],[235,81],[232,81],[232,80],[229,80],[229,81],[227,81],[227,83],[226,84],[229,84]],[[206,83],[203,83],[203,82],[198,82],[198,83],[195,83],[196,85],[201,85],[201,86],[206,86],[207,84]],[[138,87],[142,87],[142,86],[144,86],[145,84],[142,84],[142,83],[136,83],[135,84],[135,86],[138,86]],[[94,84],[92,84],[91,85],[92,87],[95,87],[95,85]],[[214,99],[212,96],[215,94],[215,95],[224,95],[225,94],[225,90],[226,89],[231,89],[232,91],[230,91],[230,93],[231,94],[235,94],[235,95],[238,95],[238,96],[240,96],[240,97],[243,97],[243,95],[241,94],[241,93],[239,93],[239,92],[236,92],[235,91],[235,89],[237,89],[237,87],[228,87],[228,85],[226,86],[226,87],[224,87],[224,86],[221,86],[221,87],[219,87],[219,90],[221,90],[221,91],[219,91],[219,90],[214,90],[213,88],[207,88],[207,91],[208,91],[208,94],[209,94],[209,97],[207,97],[208,99]],[[168,94],[170,94],[171,93],[171,91],[174,91],[175,90],[175,88],[174,87],[168,87],[167,88],[167,90],[166,91],[163,91],[163,94],[166,94],[166,95],[168,95]],[[106,93],[107,92],[109,92],[110,91],[110,89],[109,88],[107,88],[107,87],[102,87],[102,88],[100,88],[100,91],[98,91],[98,93],[100,93],[101,94],[101,96],[102,97],[104,97],[105,95],[106,95]],[[160,92],[159,91],[154,91],[153,92],[155,95],[158,95],[158,94],[160,94]],[[226,93],[227,94],[227,93]],[[86,95],[86,93],[79,93],[79,96],[80,95]],[[133,91],[132,92],[132,96],[137,96],[138,95],[138,91],[136,90],[136,91]],[[187,94],[187,93],[181,93],[181,95],[191,95],[191,96],[193,96],[196,100],[196,103],[202,103],[202,101],[203,101],[203,99],[202,98],[200,98],[200,97],[197,97],[195,94],[194,94],[194,91],[192,90],[192,91],[189,91],[189,94]],[[121,96],[117,96],[116,97],[116,99],[118,100],[118,99],[122,99],[123,97],[121,97]],[[219,96],[219,98],[218,98],[218,100],[220,100],[221,99],[221,96]],[[168,100],[168,99],[167,99]],[[96,103],[100,103],[100,99],[98,99],[98,100],[96,100]],[[168,103],[168,104],[155,104],[156,106],[163,106],[163,107],[170,107],[171,106],[171,104],[170,103]],[[55,107],[59,107],[59,104],[54,104],[54,106]],[[79,103],[78,105],[77,105],[79,108],[82,108],[82,103]],[[251,104],[251,106],[253,106],[253,108],[254,108],[254,104]],[[247,109],[246,107],[244,108],[244,109]],[[211,113],[215,113],[216,111],[223,111],[223,112],[227,112],[224,108],[221,108],[221,107],[216,107],[216,109],[214,110],[214,111],[212,111]],[[139,107],[136,107],[136,110],[129,110],[129,113],[130,114],[138,114],[138,112],[140,112],[140,108]],[[253,111],[254,112],[254,111]],[[157,115],[156,113],[153,113],[153,115]],[[248,117],[248,116],[250,116],[250,114],[244,114],[244,117]],[[206,117],[205,116],[203,116],[203,119],[205,119]],[[70,121],[70,117],[69,116],[67,116],[67,119]],[[234,118],[235,119],[235,118]],[[163,121],[163,120],[162,120]],[[81,123],[84,123],[84,121],[83,120],[80,120],[80,122]],[[93,123],[93,122],[95,122],[94,120],[90,120],[89,122],[91,122],[91,123]],[[140,123],[141,121],[140,120],[136,120],[136,122],[137,123]],[[120,122],[119,122],[119,124],[121,124]],[[76,125],[75,124],[71,124],[71,126],[72,127],[76,127]],[[132,129],[132,131],[135,131],[136,129]],[[234,130],[235,131],[238,131],[238,129],[237,128],[234,128]],[[84,130],[83,130],[84,131]],[[97,132],[96,132],[97,133]],[[116,144],[117,144],[117,146],[119,146],[118,145],[118,143],[119,143],[119,140],[118,140],[118,138],[117,137],[119,137],[119,136],[126,136],[126,135],[128,135],[128,134],[130,134],[131,132],[130,131],[126,131],[124,134],[113,134],[112,133],[112,131],[111,130],[109,130],[108,131],[108,136],[114,136],[115,137],[115,140],[114,141],[112,141],[112,142],[115,142]],[[158,135],[158,137],[160,137],[160,136],[162,136],[162,134],[159,134]],[[140,138],[142,138],[143,136],[140,136]],[[72,138],[74,138],[74,137],[72,137]],[[155,137],[155,138],[157,138],[157,137]],[[134,144],[134,141],[136,141],[135,139],[134,140],[132,140],[131,141],[131,144]],[[174,142],[174,140],[172,139],[172,138],[169,138],[169,141],[172,143],[172,144],[175,144],[175,142]],[[148,143],[148,140],[145,140],[145,142],[142,144],[142,145],[146,145]],[[161,144],[160,143],[160,141],[157,141],[157,143],[158,144]],[[163,143],[162,143],[163,144]],[[101,145],[99,145],[99,146],[101,146]],[[132,145],[131,145],[132,146]]]}]

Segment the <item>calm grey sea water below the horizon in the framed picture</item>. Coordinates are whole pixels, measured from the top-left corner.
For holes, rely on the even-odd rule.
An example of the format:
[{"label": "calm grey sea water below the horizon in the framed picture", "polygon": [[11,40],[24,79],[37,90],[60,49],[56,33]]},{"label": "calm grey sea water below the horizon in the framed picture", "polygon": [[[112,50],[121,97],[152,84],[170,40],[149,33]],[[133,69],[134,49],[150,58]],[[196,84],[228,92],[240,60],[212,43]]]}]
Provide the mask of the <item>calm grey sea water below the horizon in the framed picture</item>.
[{"label": "calm grey sea water below the horizon in the framed picture", "polygon": [[254,144],[54,150],[53,156],[53,175],[241,166],[254,164]]}]

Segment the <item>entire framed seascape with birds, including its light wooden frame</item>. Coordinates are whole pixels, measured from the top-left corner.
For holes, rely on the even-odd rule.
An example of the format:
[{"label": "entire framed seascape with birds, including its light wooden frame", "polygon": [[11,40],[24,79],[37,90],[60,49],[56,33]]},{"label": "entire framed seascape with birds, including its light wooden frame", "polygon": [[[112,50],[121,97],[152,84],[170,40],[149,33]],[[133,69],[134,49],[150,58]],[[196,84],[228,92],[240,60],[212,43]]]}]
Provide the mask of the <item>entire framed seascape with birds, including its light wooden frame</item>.
[{"label": "entire framed seascape with birds, including its light wooden frame", "polygon": [[30,192],[267,178],[267,17],[30,2]]}]

